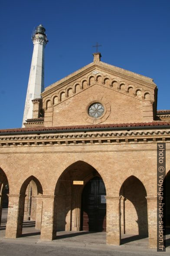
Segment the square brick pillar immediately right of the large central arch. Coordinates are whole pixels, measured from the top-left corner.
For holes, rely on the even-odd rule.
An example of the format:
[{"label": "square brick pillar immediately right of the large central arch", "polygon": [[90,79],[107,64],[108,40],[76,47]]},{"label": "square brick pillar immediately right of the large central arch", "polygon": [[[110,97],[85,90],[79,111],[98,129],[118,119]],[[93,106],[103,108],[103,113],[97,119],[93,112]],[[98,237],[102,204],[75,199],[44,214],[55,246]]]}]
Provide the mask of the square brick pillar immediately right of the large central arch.
[{"label": "square brick pillar immediately right of the large central arch", "polygon": [[117,246],[121,242],[120,199],[106,196],[106,243]]}]

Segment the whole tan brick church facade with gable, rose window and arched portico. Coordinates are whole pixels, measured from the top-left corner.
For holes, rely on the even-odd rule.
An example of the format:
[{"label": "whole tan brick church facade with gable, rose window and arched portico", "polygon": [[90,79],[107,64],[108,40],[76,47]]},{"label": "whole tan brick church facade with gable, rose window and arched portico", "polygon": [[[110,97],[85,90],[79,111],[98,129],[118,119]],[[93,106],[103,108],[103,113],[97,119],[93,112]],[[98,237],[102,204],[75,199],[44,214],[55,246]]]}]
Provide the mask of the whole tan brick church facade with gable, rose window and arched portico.
[{"label": "whole tan brick church facade with gable, rose window and arched portico", "polygon": [[21,236],[23,219],[33,219],[42,240],[60,230],[106,231],[107,244],[133,234],[154,248],[157,143],[166,142],[170,181],[170,111],[157,111],[151,78],[93,57],[33,99],[25,128],[0,130],[6,237]]}]

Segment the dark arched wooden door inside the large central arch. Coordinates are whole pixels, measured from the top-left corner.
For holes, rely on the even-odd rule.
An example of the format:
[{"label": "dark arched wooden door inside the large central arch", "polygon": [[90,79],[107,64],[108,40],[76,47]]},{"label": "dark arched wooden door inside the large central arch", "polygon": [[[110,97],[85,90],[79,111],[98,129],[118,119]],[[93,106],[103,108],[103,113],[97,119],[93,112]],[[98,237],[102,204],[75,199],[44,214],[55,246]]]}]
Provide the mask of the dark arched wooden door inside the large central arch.
[{"label": "dark arched wooden door inside the large central arch", "polygon": [[106,231],[106,189],[99,177],[89,181],[82,192],[81,229]]}]

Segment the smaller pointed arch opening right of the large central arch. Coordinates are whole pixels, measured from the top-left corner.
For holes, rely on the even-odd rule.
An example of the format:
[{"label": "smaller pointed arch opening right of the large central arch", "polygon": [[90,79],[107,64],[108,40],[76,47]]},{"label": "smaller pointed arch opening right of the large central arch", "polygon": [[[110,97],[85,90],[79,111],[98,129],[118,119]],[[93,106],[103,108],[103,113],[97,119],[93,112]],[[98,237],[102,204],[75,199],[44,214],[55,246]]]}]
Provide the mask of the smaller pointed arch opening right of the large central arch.
[{"label": "smaller pointed arch opening right of the large central arch", "polygon": [[148,236],[147,192],[135,176],[128,177],[121,186],[121,234]]}]

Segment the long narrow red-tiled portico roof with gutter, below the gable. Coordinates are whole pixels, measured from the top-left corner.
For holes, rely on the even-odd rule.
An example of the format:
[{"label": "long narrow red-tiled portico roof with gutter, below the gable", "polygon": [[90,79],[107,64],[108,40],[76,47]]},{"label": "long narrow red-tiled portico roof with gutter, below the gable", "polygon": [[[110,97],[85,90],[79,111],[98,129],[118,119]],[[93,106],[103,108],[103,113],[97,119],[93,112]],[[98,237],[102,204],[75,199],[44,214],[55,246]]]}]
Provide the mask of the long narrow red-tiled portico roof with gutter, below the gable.
[{"label": "long narrow red-tiled portico roof with gutter, below the gable", "polygon": [[138,130],[138,129],[157,129],[170,128],[170,122],[153,121],[148,123],[126,123],[126,124],[102,124],[102,125],[74,125],[58,127],[35,127],[35,128],[15,128],[0,130],[0,135],[16,134],[37,134],[37,133],[59,133],[76,131],[112,131],[112,130]]}]

